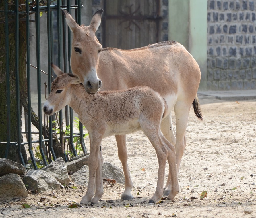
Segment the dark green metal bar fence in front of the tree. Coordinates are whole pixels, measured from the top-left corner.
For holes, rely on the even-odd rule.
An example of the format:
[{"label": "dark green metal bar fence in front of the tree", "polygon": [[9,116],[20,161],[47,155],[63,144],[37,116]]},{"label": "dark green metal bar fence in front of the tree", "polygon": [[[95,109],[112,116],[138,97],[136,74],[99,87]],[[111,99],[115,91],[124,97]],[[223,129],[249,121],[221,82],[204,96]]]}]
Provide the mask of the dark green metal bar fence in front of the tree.
[{"label": "dark green metal bar fence in front of the tree", "polygon": [[[53,81],[53,76],[52,76],[52,69],[50,67],[50,63],[54,63],[54,55],[57,55],[57,63],[54,63],[58,65],[61,69],[63,69],[64,72],[71,72],[70,69],[70,54],[71,54],[71,32],[67,28],[65,18],[62,15],[61,10],[67,10],[68,12],[72,12],[75,10],[75,19],[78,24],[81,22],[81,2],[80,0],[75,0],[75,1],[61,1],[61,0],[56,0],[56,1],[39,1],[39,0],[33,0],[33,1],[24,1],[25,2],[25,8],[26,10],[20,10],[19,6],[19,1],[15,0],[15,11],[9,10],[10,2],[5,1],[5,7],[4,11],[1,11],[1,14],[4,13],[5,16],[5,46],[6,46],[6,62],[7,62],[7,67],[6,67],[6,96],[7,96],[7,141],[6,142],[0,142],[0,143],[6,143],[6,151],[5,151],[5,158],[8,156],[9,152],[9,146],[10,145],[16,145],[18,147],[18,153],[19,153],[19,158],[20,162],[25,166],[25,160],[23,159],[22,153],[21,153],[21,146],[26,145],[27,151],[30,154],[30,158],[32,161],[32,164],[35,169],[37,169],[37,158],[35,158],[34,152],[36,151],[33,149],[33,146],[35,144],[39,144],[39,151],[42,157],[42,161],[44,165],[47,165],[49,163],[49,159],[47,160],[46,156],[50,158],[50,161],[53,159],[56,159],[56,155],[53,149],[53,143],[56,142],[55,140],[55,135],[59,139],[61,146],[64,147],[63,143],[64,141],[67,140],[67,148],[64,148],[64,159],[65,162],[68,161],[68,157],[66,154],[67,149],[69,150],[70,153],[73,153],[73,156],[77,156],[76,148],[73,143],[74,137],[79,137],[80,138],[80,146],[82,147],[82,151],[86,153],[86,147],[84,144],[84,133],[83,133],[83,126],[79,122],[79,133],[74,133],[73,130],[73,111],[70,107],[66,106],[65,107],[65,113],[63,111],[59,111],[59,122],[60,122],[60,128],[59,132],[61,134],[56,134],[53,129],[56,129],[54,127],[55,123],[55,115],[50,116],[49,118],[46,118],[46,121],[43,121],[43,113],[42,113],[42,88],[41,88],[41,76],[42,76],[42,71],[41,71],[41,57],[40,57],[40,15],[42,15],[42,12],[46,12],[43,14],[43,16],[47,16],[47,49],[48,49],[48,93],[51,91],[51,82]],[[46,3],[45,3],[46,2]],[[17,120],[18,120],[18,141],[10,141],[10,72],[9,72],[9,33],[8,33],[8,14],[12,13],[16,15],[16,20],[15,20],[15,25],[16,25],[16,44],[15,44],[15,53],[16,53],[16,60],[15,64],[16,65],[16,100],[17,100]],[[57,16],[56,16],[57,13]],[[26,75],[27,75],[27,114],[20,113],[20,83],[19,83],[19,22],[20,22],[20,16],[19,14],[24,14],[22,16],[22,19],[26,20],[26,46],[27,46],[27,52],[26,52]],[[35,15],[34,20],[31,18],[31,14]],[[53,16],[55,15],[55,16]],[[54,19],[53,19],[54,17]],[[56,21],[57,17],[57,21]],[[37,75],[37,102],[38,102],[38,111],[37,116],[38,116],[38,139],[37,140],[32,140],[32,126],[31,126],[31,117],[32,113],[34,113],[31,110],[31,81],[30,81],[30,69],[31,69],[31,64],[30,64],[30,22],[35,22],[35,29],[36,29],[36,75]],[[13,25],[13,24],[12,24]],[[57,25],[57,40],[54,39],[54,34],[53,31],[56,31],[56,25]],[[55,34],[56,35],[56,34]],[[56,49],[57,48],[57,52]],[[57,53],[57,54],[54,54]],[[24,54],[25,55],[25,54]],[[21,116],[25,116],[25,131],[21,131]],[[65,124],[65,126],[69,126],[68,132],[69,134],[64,134],[63,133],[63,127],[62,127],[62,122]],[[64,126],[64,129],[65,129]],[[48,132],[46,134],[45,132]],[[67,131],[66,131],[67,132]],[[43,134],[44,133],[44,134]],[[22,134],[26,134],[27,137],[22,137]],[[34,134],[34,133],[33,133]],[[22,139],[23,138],[23,139]],[[24,138],[27,138],[25,141]],[[65,143],[66,144],[66,143]],[[39,152],[38,151],[38,152]],[[46,155],[47,153],[47,155]]]}]

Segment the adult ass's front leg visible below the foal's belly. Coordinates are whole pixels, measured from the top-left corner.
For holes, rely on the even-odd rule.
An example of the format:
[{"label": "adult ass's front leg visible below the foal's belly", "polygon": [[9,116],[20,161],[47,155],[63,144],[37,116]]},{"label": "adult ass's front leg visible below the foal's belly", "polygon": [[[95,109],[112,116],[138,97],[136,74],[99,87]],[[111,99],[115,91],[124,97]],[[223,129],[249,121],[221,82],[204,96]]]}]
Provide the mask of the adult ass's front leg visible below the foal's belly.
[{"label": "adult ass's front leg visible below the foal's belly", "polygon": [[130,199],[133,199],[133,196],[131,194],[131,190],[133,188],[133,182],[131,180],[131,175],[130,175],[128,164],[127,164],[128,155],[127,155],[127,149],[126,149],[125,135],[115,135],[115,138],[117,143],[118,157],[122,163],[123,173],[125,176],[125,190],[121,195],[121,199],[130,200]]}]

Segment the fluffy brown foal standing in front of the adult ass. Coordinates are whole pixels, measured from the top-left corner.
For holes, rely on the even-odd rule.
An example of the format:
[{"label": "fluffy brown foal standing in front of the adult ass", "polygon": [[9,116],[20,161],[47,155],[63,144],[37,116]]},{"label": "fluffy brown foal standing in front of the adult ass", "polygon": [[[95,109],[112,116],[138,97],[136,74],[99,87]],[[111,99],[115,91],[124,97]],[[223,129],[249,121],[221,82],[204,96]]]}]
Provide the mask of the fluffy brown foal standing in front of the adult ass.
[{"label": "fluffy brown foal standing in front of the adult ass", "polygon": [[159,164],[156,192],[149,202],[156,202],[164,192],[166,159],[172,180],[168,199],[173,201],[179,192],[178,172],[175,148],[160,132],[161,120],[168,115],[164,99],[146,86],[88,94],[78,77],[63,73],[53,64],[52,67],[58,77],[53,81],[51,93],[44,103],[44,113],[53,115],[55,111],[69,105],[78,114],[90,137],[89,183],[80,204],[97,204],[103,195],[102,138],[140,129],[155,148]]}]

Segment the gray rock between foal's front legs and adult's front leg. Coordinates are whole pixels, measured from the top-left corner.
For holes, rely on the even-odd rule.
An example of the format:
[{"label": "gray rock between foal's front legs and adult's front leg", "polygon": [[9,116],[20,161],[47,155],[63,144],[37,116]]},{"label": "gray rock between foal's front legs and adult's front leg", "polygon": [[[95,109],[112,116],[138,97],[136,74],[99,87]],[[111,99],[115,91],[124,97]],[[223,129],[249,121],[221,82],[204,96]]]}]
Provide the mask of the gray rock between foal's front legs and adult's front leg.
[{"label": "gray rock between foal's front legs and adult's front leg", "polygon": [[119,167],[117,167],[109,162],[103,163],[102,177],[103,177],[103,179],[104,178],[115,179],[115,181],[117,183],[125,184],[125,178],[123,176],[123,171]]}]

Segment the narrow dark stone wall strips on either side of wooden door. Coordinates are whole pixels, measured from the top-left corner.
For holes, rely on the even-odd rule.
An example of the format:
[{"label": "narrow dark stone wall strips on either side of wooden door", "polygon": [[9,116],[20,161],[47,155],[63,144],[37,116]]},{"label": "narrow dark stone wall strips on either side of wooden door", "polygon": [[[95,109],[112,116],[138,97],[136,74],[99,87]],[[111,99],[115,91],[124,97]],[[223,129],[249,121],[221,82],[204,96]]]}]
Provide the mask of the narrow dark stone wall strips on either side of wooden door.
[{"label": "narrow dark stone wall strips on either side of wooden door", "polygon": [[[160,41],[168,40],[168,2],[169,0],[160,0]],[[92,14],[103,8],[102,0],[92,0]],[[101,43],[101,26],[96,32],[96,36]]]}]

